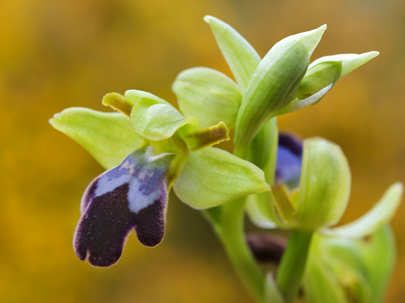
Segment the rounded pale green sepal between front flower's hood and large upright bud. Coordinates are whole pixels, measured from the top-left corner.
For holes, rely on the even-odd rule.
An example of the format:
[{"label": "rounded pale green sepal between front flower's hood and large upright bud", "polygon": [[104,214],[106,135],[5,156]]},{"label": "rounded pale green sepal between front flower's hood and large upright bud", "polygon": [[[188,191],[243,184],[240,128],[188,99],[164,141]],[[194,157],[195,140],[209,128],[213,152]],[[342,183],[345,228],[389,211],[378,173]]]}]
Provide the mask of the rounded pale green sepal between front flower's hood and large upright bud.
[{"label": "rounded pale green sepal between front flower's hood and large upright bud", "polygon": [[172,89],[183,115],[196,115],[200,127],[220,121],[231,128],[242,102],[238,85],[224,74],[205,67],[182,71]]}]

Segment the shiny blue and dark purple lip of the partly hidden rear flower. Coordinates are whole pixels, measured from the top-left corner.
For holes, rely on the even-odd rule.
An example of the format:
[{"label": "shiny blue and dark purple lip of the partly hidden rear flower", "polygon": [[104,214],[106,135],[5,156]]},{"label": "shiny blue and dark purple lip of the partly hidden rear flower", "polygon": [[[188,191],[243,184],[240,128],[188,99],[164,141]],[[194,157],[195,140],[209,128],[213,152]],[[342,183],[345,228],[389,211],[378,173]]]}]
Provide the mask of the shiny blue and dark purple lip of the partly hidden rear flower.
[{"label": "shiny blue and dark purple lip of the partly hidden rear flower", "polygon": [[302,142],[297,137],[280,133],[278,136],[275,183],[296,188],[300,183]]}]

